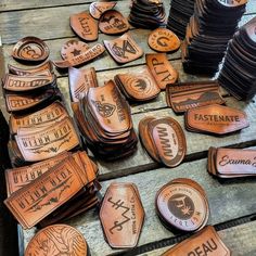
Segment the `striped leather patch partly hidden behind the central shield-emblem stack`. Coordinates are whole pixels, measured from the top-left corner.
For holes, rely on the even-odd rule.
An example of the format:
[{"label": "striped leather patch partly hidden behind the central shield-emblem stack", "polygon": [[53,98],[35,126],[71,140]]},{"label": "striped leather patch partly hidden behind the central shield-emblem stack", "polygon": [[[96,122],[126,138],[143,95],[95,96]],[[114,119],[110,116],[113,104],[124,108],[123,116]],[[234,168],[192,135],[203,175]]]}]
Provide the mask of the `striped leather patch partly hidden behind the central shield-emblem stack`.
[{"label": "striped leather patch partly hidden behind the central shield-emblem stack", "polygon": [[97,74],[94,67],[78,69],[68,68],[68,81],[71,98],[73,102],[79,101],[79,93],[87,93],[89,88],[98,87]]}]

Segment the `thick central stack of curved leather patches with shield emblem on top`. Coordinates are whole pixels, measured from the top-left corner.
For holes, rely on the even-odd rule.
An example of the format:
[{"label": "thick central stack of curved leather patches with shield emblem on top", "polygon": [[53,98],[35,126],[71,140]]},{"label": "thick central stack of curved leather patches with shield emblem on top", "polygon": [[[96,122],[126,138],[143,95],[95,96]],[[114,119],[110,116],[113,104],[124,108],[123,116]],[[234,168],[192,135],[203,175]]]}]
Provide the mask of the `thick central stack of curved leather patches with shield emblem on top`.
[{"label": "thick central stack of curved leather patches with shield emblem on top", "polygon": [[115,159],[136,151],[138,139],[130,108],[113,80],[80,94],[79,103],[73,104],[73,111],[94,155]]}]

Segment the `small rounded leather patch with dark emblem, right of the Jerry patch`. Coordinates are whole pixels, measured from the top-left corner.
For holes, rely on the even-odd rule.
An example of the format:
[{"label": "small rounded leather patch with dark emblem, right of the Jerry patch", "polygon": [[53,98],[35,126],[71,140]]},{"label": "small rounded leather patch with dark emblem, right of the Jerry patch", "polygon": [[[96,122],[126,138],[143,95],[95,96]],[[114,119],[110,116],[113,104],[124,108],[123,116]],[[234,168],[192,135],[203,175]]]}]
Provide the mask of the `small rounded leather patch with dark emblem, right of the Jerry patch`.
[{"label": "small rounded leather patch with dark emblem, right of the Jerry patch", "polygon": [[99,28],[106,35],[116,35],[127,31],[129,23],[120,12],[108,10],[101,15]]}]

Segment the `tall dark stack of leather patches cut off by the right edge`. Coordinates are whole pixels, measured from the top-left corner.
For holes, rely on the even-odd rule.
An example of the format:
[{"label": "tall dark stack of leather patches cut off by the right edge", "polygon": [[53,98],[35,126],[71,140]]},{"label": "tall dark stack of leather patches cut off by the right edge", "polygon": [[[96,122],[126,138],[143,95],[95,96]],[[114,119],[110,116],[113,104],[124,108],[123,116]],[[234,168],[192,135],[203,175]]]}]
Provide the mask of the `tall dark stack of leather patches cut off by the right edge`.
[{"label": "tall dark stack of leather patches cut off by the right edge", "polygon": [[229,42],[219,82],[239,100],[256,94],[256,17],[240,28]]}]

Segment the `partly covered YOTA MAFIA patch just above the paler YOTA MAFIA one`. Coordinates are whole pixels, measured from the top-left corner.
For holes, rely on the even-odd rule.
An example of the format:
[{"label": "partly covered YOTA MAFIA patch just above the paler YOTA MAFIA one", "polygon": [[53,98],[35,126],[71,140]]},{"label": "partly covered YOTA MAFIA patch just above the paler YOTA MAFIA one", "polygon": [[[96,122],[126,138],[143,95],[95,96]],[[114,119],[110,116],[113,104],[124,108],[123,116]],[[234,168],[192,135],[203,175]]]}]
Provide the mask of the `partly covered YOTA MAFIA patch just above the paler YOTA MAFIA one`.
[{"label": "partly covered YOTA MAFIA patch just above the paler YOTA MAFIA one", "polygon": [[36,128],[46,127],[55,124],[61,119],[68,117],[66,108],[61,102],[53,102],[49,106],[29,115],[11,115],[9,127],[11,133],[17,133],[22,127]]}]

